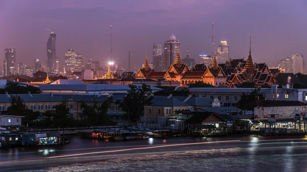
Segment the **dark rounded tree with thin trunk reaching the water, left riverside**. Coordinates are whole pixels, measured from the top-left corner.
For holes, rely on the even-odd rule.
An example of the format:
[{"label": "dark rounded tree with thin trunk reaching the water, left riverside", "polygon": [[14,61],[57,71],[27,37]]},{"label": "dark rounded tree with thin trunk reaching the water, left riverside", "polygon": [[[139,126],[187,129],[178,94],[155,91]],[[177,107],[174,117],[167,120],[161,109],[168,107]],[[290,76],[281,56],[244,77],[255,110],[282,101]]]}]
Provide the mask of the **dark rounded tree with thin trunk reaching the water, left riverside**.
[{"label": "dark rounded tree with thin trunk reaching the water, left riverside", "polygon": [[54,111],[53,111],[52,121],[54,124],[58,125],[60,128],[62,128],[63,131],[63,146],[65,142],[65,135],[64,135],[64,128],[67,127],[70,117],[70,111],[69,108],[61,103],[59,105],[54,105]]}]

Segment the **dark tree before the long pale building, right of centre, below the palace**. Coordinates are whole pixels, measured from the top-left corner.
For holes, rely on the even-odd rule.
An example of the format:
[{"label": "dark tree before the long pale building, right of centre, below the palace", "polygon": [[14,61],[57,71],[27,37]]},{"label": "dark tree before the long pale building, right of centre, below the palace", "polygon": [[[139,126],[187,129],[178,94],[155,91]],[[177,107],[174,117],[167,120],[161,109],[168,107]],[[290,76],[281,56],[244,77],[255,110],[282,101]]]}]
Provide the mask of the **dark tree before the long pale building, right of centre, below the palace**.
[{"label": "dark tree before the long pale building, right of centre, below the palace", "polygon": [[246,109],[246,104],[256,101],[256,100],[265,100],[265,97],[259,93],[260,88],[255,88],[251,93],[246,94],[243,92],[243,94],[240,97],[240,100],[237,103],[237,107],[240,109]]}]

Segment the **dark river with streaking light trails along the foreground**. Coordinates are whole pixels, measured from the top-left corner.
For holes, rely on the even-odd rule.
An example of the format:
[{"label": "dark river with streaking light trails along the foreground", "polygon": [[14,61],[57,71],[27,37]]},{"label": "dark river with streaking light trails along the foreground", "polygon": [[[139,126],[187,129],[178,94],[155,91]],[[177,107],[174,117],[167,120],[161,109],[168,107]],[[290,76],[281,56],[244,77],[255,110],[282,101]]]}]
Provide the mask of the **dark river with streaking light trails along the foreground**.
[{"label": "dark river with streaking light trails along the foreground", "polygon": [[64,148],[1,150],[0,166],[4,171],[307,171],[302,138],[70,140]]}]

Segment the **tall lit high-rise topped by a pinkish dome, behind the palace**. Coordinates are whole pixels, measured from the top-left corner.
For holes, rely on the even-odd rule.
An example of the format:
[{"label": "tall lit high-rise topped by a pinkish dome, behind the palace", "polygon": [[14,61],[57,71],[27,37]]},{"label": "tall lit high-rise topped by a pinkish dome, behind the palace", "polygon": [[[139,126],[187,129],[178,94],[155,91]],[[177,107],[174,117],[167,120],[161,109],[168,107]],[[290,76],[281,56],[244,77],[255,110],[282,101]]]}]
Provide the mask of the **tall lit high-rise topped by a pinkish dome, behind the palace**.
[{"label": "tall lit high-rise topped by a pinkish dome, behind the palace", "polygon": [[167,71],[169,66],[175,61],[180,43],[176,41],[176,36],[171,34],[164,42],[163,51],[163,71]]}]

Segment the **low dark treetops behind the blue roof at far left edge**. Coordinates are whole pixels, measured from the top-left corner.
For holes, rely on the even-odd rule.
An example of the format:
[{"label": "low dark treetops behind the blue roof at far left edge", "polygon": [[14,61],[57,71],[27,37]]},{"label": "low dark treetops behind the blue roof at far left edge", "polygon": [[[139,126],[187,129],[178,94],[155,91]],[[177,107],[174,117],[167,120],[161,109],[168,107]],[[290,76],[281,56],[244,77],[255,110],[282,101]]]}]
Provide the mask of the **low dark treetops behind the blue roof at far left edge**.
[{"label": "low dark treetops behind the blue roof at far left edge", "polygon": [[5,92],[9,94],[27,94],[28,92],[31,92],[31,94],[41,93],[38,87],[31,85],[21,86],[17,83],[8,83],[4,88],[0,89],[0,94],[4,94]]}]

